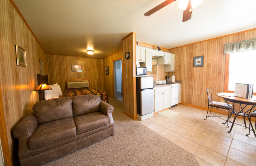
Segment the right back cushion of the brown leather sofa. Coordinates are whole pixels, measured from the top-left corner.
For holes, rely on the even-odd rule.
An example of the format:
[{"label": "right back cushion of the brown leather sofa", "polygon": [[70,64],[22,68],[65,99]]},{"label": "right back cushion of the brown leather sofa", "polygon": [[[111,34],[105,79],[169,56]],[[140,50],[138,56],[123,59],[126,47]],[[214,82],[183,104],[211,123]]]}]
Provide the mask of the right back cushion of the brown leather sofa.
[{"label": "right back cushion of the brown leather sofa", "polygon": [[72,96],[73,116],[79,116],[100,109],[100,96],[95,94]]}]

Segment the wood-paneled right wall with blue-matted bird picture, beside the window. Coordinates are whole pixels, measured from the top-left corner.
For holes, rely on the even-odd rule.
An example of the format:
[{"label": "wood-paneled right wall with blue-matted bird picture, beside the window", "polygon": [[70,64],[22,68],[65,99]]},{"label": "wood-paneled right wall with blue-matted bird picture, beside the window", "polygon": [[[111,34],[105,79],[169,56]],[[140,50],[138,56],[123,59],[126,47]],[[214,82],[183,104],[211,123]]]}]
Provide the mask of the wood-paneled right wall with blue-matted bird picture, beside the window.
[{"label": "wood-paneled right wall with blue-matted bird picture, beside the window", "polygon": [[[224,44],[252,38],[256,38],[256,30],[170,49],[175,54],[175,79],[183,81],[181,102],[208,107],[207,87],[212,87],[212,95],[217,101],[223,100],[215,94],[224,91]],[[193,67],[196,56],[204,56],[203,67]]]}]

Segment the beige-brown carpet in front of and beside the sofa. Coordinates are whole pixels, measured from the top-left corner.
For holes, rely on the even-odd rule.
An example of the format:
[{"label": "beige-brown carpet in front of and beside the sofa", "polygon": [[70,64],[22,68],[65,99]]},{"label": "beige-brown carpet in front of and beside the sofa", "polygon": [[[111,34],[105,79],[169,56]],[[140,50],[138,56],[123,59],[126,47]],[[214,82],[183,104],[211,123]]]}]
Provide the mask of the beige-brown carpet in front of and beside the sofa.
[{"label": "beige-brown carpet in front of and beside the sofa", "polygon": [[114,136],[48,162],[44,166],[199,165],[194,155],[124,115],[122,102],[109,98],[109,103],[114,106]]}]

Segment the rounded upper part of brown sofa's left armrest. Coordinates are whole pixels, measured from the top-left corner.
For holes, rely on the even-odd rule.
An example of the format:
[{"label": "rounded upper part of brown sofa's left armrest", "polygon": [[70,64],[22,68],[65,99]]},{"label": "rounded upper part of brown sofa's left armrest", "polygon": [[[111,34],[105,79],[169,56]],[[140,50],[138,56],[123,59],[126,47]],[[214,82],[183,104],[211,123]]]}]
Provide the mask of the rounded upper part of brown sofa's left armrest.
[{"label": "rounded upper part of brown sofa's left armrest", "polygon": [[37,127],[37,120],[34,114],[24,117],[13,129],[13,137],[18,140],[28,139]]}]

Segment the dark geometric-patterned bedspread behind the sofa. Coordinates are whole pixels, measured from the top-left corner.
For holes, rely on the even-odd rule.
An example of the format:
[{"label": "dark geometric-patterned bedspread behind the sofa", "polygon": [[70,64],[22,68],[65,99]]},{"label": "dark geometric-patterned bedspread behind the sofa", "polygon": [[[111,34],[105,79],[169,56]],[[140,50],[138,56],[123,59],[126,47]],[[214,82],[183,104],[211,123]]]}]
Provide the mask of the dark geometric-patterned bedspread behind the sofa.
[{"label": "dark geometric-patterned bedspread behind the sofa", "polygon": [[68,92],[62,92],[62,95],[60,95],[59,97],[78,96],[78,95],[86,95],[86,94],[97,94],[100,96],[100,99],[102,101],[108,103],[108,94],[100,89],[72,90]]}]

